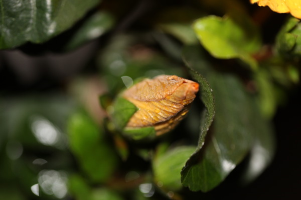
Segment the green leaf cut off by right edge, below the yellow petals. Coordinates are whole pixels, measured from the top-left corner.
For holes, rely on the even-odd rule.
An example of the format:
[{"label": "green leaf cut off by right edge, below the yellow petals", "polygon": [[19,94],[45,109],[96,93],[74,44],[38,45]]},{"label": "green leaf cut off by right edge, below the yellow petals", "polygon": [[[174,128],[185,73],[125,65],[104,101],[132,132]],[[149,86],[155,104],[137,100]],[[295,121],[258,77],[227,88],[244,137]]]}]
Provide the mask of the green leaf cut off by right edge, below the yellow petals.
[{"label": "green leaf cut off by right edge, below the yellow petals", "polygon": [[301,55],[301,23],[290,17],[276,36],[276,49],[284,57]]}]

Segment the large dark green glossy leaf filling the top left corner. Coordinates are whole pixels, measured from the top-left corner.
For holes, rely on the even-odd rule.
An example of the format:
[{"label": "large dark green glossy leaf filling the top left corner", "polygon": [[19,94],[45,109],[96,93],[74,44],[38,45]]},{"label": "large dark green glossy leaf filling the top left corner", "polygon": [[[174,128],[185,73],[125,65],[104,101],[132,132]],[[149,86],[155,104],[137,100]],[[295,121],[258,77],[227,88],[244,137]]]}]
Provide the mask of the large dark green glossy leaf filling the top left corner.
[{"label": "large dark green glossy leaf filling the top left corner", "polygon": [[0,49],[42,43],[70,28],[99,0],[0,0]]}]

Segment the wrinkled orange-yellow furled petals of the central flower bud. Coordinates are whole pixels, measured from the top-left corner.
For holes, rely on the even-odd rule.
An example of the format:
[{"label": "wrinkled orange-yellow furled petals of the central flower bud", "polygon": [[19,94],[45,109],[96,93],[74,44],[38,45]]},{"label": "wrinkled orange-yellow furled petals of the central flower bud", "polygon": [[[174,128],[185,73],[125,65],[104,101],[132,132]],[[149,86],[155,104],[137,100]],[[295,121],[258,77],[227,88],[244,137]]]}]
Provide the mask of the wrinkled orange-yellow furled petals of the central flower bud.
[{"label": "wrinkled orange-yellow furled petals of the central flower bud", "polygon": [[176,75],[159,75],[134,84],[122,94],[138,107],[126,128],[154,126],[157,135],[170,131],[186,115],[198,90],[197,82]]}]

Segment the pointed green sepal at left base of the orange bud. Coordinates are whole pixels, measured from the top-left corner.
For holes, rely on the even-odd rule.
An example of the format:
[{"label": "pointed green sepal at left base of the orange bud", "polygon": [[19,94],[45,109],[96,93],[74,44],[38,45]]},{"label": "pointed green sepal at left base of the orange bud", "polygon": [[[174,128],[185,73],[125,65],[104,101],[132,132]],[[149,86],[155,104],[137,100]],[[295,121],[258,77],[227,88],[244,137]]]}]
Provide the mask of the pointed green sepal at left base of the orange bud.
[{"label": "pointed green sepal at left base of the orange bud", "polygon": [[130,117],[138,108],[121,96],[117,96],[113,102],[112,120],[118,130],[123,130]]}]

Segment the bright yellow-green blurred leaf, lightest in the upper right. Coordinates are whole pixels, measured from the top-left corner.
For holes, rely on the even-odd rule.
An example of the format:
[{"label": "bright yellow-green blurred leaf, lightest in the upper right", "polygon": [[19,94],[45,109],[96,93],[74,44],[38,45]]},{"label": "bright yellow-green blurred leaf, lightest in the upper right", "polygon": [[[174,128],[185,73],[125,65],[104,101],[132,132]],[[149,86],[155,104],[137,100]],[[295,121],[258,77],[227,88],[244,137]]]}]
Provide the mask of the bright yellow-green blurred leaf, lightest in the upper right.
[{"label": "bright yellow-green blurred leaf, lightest in the upper right", "polygon": [[256,61],[251,53],[260,48],[260,37],[249,18],[206,16],[196,20],[193,28],[203,46],[216,58],[240,58],[251,67]]}]

